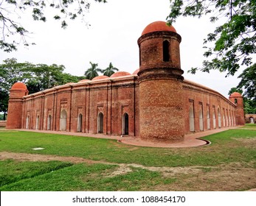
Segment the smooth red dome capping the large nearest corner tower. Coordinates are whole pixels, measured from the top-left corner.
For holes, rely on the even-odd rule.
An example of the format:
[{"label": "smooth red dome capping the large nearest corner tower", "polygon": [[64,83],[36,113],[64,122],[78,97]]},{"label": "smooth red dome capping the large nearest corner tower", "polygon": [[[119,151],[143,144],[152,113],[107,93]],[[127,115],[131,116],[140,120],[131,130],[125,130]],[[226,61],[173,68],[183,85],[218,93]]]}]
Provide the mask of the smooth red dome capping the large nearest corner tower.
[{"label": "smooth red dome capping the large nearest corner tower", "polygon": [[165,21],[155,21],[148,26],[142,32],[142,35],[151,33],[151,32],[176,32],[176,29],[173,26],[168,26]]}]

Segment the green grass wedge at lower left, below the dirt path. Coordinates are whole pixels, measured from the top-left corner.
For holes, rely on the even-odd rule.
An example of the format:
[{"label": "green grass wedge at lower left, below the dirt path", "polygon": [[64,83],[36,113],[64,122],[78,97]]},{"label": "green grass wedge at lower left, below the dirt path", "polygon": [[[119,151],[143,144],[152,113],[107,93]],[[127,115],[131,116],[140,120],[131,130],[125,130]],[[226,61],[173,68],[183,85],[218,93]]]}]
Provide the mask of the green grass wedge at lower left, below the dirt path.
[{"label": "green grass wedge at lower left, below the dirt path", "polygon": [[[159,172],[134,168],[133,172],[105,177],[117,166],[103,164],[66,166],[57,171],[3,185],[1,191],[139,191],[143,185],[164,182]],[[148,184],[148,179],[151,183]],[[139,184],[138,184],[139,183]]]}]

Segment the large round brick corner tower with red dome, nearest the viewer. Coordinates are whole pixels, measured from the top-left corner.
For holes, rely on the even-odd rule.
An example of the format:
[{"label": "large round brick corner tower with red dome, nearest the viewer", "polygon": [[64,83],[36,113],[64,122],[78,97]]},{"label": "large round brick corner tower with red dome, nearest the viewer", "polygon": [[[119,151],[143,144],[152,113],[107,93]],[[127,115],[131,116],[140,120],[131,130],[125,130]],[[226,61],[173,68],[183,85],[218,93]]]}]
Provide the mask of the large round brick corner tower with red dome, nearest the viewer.
[{"label": "large round brick corner tower with red dome, nearest the viewer", "polygon": [[184,140],[184,110],[179,43],[173,26],[156,21],[145,27],[139,44],[140,137]]}]

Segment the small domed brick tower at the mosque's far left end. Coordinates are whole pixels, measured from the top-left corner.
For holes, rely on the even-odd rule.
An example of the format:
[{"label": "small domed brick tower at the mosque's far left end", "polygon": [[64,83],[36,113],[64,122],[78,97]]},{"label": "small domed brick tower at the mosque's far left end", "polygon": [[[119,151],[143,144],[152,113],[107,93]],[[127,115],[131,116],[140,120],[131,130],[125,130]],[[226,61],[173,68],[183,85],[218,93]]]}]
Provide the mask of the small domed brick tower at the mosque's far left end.
[{"label": "small domed brick tower at the mosque's far left end", "polygon": [[7,129],[21,129],[23,96],[28,93],[27,86],[22,82],[16,82],[10,89]]}]

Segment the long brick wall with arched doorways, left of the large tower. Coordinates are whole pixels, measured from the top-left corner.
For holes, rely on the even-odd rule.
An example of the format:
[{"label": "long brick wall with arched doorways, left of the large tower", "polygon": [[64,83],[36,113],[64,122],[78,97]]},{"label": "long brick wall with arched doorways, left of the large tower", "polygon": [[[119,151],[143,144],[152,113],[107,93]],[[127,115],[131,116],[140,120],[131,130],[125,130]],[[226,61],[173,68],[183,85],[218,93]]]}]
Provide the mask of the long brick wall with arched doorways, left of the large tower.
[{"label": "long brick wall with arched doorways, left of the large tower", "polygon": [[[139,88],[136,75],[62,85],[24,97],[22,128],[123,135],[128,115],[128,135],[139,135]],[[66,118],[61,117],[63,110]],[[99,131],[99,115],[103,131]],[[51,122],[49,126],[49,116]],[[62,119],[62,120],[61,120]]]}]

